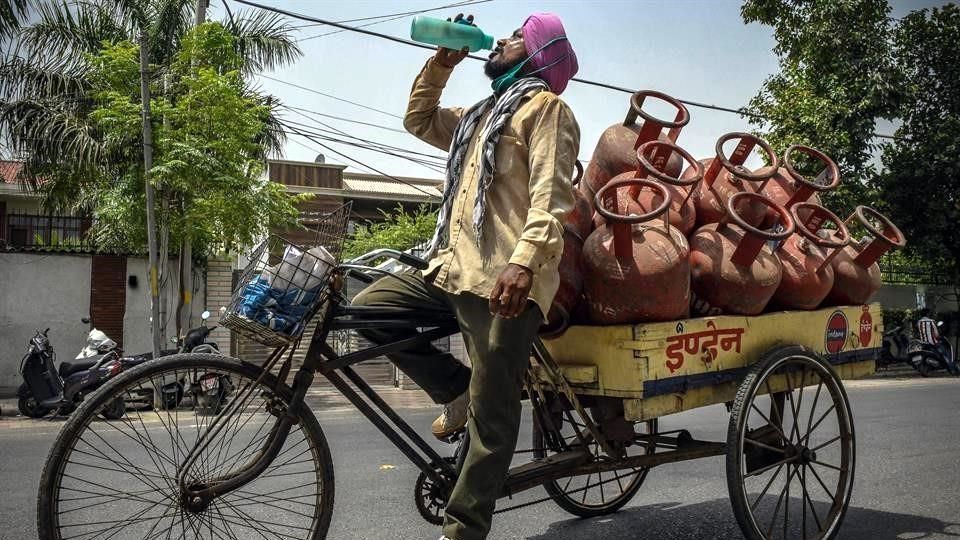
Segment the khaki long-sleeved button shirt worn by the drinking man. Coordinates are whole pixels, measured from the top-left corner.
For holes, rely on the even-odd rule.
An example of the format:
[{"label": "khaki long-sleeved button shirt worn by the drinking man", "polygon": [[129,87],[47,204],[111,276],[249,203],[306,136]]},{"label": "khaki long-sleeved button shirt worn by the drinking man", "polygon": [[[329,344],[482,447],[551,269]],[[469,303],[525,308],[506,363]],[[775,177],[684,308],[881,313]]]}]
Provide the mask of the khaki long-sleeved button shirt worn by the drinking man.
[{"label": "khaki long-sleeved button shirt worn by the drinking man", "polygon": [[[444,151],[450,149],[465,112],[439,106],[452,71],[431,58],[413,83],[403,120],[407,131]],[[486,116],[479,126],[485,121]],[[433,276],[433,283],[447,292],[489,298],[507,263],[525,266],[533,272],[530,299],[545,318],[560,282],[563,219],[574,204],[571,175],[580,149],[580,127],[553,92],[530,92],[521,99],[497,143],[478,246],[473,206],[481,167],[480,131],[478,127],[467,148],[450,213],[449,242],[424,275]]]}]

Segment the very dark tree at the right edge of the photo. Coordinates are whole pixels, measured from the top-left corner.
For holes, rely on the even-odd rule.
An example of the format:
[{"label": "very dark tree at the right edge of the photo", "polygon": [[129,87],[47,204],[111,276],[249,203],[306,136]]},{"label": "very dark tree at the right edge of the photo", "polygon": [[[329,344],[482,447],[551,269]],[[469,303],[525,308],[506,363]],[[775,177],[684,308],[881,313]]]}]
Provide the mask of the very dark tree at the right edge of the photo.
[{"label": "very dark tree at the right edge of the photo", "polygon": [[908,14],[894,43],[907,98],[896,139],[883,148],[880,203],[906,234],[908,253],[960,283],[960,8]]}]

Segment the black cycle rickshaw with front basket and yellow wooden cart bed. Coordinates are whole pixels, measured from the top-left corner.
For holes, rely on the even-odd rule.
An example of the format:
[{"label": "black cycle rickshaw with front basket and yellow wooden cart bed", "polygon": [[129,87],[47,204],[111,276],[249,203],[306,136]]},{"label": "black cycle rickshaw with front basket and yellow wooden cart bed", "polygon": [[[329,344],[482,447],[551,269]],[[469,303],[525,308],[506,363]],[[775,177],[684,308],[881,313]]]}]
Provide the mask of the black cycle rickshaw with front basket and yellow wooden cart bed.
[{"label": "black cycle rickshaw with front basket and yellow wooden cart bed", "polygon": [[[318,243],[334,255],[348,210],[318,226]],[[244,287],[276,272],[291,247],[297,249],[276,237],[259,247],[231,310]],[[416,257],[389,250],[368,259],[377,257],[423,266]],[[459,332],[456,321],[350,306],[340,294],[344,273],[381,270],[326,261],[329,268],[317,271],[316,264],[301,267],[303,260],[295,270],[317,272],[312,277],[323,286],[304,302],[307,318],[318,322],[302,364],[293,367],[302,328],[284,334],[271,329],[270,321],[231,321],[228,313],[224,324],[276,347],[263,365],[182,354],[121,374],[84,401],[50,452],[38,501],[42,539],[325,538],[333,512],[333,461],[304,403],[316,374],[420,469],[416,506],[424,518],[439,522],[469,441],[451,446],[457,448],[453,456],[441,456],[352,366],[453,335]],[[291,292],[304,299],[304,291],[295,290],[271,301]],[[420,332],[345,354],[332,346],[337,333],[386,326]],[[872,304],[573,326],[560,337],[537,339],[524,382],[532,444],[526,448],[521,434],[517,451],[531,459],[510,469],[502,495],[543,486],[548,498],[533,502],[552,499],[577,516],[603,515],[629,502],[653,467],[726,456],[732,509],[746,538],[831,538],[849,504],[855,467],[842,380],[874,371],[882,334],[880,306]],[[170,375],[209,373],[230,377],[235,388],[218,414],[183,406],[131,411],[118,422],[96,418],[104,403],[124,392]],[[730,414],[726,440],[660,429],[664,416],[717,404],[726,404]],[[504,503],[498,512],[528,504]]]}]

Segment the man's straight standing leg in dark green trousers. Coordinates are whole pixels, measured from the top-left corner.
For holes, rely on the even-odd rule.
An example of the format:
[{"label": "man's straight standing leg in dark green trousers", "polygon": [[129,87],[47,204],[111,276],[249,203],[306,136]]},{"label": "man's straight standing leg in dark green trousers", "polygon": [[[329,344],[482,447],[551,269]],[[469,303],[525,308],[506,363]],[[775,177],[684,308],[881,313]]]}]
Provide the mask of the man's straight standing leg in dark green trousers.
[{"label": "man's straight standing leg in dark green trousers", "polygon": [[443,533],[454,540],[486,538],[520,429],[520,394],[540,310],[528,303],[514,319],[490,314],[472,294],[450,296],[473,369],[467,429],[470,447],[447,504]]}]

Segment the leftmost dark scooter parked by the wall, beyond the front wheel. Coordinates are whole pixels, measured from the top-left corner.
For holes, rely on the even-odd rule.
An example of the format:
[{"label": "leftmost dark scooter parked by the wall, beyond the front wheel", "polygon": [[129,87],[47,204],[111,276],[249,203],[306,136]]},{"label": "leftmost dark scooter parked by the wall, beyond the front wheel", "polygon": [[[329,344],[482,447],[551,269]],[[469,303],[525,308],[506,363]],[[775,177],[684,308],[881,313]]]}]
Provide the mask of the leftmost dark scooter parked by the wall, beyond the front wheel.
[{"label": "leftmost dark scooter parked by the wall, beyond the front wheel", "polygon": [[[89,324],[89,319],[83,319]],[[96,390],[120,373],[125,365],[115,341],[93,328],[87,343],[72,362],[56,367],[56,353],[47,336],[50,329],[37,330],[30,339],[27,354],[20,362],[23,384],[17,390],[20,412],[41,418],[51,411],[70,414],[83,401],[84,395]],[[116,420],[126,412],[123,398],[111,401],[102,411],[105,418]]]}]

